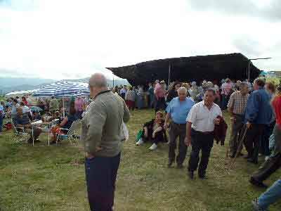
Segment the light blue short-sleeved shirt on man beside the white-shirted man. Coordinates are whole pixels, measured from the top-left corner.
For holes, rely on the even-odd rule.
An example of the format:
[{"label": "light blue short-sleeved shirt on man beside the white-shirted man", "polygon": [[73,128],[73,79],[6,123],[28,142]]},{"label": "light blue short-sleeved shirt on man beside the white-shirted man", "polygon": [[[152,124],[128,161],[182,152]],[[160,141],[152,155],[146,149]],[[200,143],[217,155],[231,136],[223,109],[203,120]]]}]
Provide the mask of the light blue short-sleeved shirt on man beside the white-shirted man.
[{"label": "light blue short-sleeved shirt on man beside the white-shirted man", "polygon": [[171,119],[176,124],[185,124],[186,118],[192,106],[195,104],[190,98],[180,101],[178,97],[173,98],[166,108],[166,112],[171,114]]}]

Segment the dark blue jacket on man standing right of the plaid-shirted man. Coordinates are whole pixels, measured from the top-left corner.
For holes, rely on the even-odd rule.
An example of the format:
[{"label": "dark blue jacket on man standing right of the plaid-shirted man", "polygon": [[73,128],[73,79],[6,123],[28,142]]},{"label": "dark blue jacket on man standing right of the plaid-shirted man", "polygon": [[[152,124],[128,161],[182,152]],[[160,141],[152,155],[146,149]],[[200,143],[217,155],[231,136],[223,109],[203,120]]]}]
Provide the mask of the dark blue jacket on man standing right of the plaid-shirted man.
[{"label": "dark blue jacket on man standing right of the plaid-shirted man", "polygon": [[273,110],[270,106],[270,95],[265,89],[253,91],[249,96],[245,111],[245,122],[269,124]]}]

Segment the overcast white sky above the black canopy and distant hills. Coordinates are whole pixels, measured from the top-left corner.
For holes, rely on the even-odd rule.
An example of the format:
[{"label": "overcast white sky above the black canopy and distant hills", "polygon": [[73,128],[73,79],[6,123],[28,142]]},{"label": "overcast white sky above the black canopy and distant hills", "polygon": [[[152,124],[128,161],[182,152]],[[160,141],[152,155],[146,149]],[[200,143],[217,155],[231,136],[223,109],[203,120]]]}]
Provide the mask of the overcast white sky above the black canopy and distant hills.
[{"label": "overcast white sky above the black canopy and distant hills", "polygon": [[0,77],[111,77],[105,67],[234,52],[281,70],[280,11],[280,0],[0,0]]}]

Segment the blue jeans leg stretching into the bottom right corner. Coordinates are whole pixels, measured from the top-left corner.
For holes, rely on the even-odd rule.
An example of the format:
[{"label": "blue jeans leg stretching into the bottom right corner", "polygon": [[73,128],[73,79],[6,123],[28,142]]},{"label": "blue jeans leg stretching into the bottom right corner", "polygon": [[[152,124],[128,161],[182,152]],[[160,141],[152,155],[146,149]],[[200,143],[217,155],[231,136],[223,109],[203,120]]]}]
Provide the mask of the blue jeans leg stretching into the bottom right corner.
[{"label": "blue jeans leg stretching into the bottom right corner", "polygon": [[269,205],[275,203],[278,199],[281,199],[281,179],[275,181],[265,193],[261,194],[258,198],[258,204],[259,207],[266,210]]}]

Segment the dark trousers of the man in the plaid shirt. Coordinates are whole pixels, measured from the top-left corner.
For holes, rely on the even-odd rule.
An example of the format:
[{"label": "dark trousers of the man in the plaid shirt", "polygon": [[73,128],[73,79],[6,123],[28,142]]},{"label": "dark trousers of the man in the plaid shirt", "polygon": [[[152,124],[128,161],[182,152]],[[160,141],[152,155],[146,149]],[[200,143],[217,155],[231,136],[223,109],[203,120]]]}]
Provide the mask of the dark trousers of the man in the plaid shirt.
[{"label": "dark trousers of the man in the plaid shirt", "polygon": [[229,148],[230,148],[230,155],[235,155],[237,151],[241,151],[238,148],[238,141],[240,140],[240,134],[242,134],[242,127],[243,127],[243,117],[242,115],[234,115],[236,121],[231,122],[231,136],[229,140]]}]

